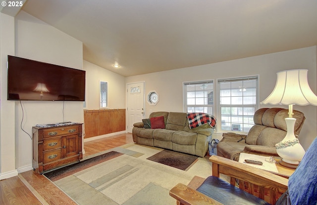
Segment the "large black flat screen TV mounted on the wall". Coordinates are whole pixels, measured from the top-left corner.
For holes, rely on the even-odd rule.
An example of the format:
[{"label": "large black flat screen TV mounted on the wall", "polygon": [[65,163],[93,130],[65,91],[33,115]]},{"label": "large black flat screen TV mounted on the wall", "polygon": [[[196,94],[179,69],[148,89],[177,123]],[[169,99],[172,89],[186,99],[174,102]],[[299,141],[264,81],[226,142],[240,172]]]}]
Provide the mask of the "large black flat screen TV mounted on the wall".
[{"label": "large black flat screen TV mounted on the wall", "polygon": [[8,55],[8,100],[85,101],[86,72]]}]

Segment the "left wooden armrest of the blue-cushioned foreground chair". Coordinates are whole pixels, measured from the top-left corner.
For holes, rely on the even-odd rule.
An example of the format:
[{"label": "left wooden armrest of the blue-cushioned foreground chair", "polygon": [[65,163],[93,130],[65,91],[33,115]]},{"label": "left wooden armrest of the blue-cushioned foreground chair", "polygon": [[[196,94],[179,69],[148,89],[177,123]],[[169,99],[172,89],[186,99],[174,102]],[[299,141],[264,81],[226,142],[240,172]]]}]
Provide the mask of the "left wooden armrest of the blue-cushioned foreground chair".
[{"label": "left wooden armrest of the blue-cushioned foreground chair", "polygon": [[176,199],[181,205],[222,205],[220,202],[181,183],[169,191],[169,196]]}]

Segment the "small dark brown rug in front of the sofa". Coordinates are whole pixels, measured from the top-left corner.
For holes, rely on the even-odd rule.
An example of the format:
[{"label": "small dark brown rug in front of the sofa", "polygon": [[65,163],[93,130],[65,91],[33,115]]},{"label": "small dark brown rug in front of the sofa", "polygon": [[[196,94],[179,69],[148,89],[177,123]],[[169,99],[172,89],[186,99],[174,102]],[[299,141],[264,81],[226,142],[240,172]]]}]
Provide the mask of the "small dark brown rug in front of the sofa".
[{"label": "small dark brown rug in front of the sofa", "polygon": [[190,168],[190,166],[195,163],[197,159],[197,156],[174,152],[171,150],[160,151],[158,154],[148,158],[148,160],[179,168],[181,170],[187,170]]}]

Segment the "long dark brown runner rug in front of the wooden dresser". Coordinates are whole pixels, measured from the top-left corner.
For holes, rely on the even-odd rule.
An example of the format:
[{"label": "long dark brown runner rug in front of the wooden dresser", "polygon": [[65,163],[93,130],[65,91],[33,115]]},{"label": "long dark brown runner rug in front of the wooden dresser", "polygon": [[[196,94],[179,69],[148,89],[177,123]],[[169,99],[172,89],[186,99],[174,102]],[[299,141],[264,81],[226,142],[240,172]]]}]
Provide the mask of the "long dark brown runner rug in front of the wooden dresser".
[{"label": "long dark brown runner rug in front of the wooden dresser", "polygon": [[105,161],[110,160],[112,158],[118,157],[120,155],[123,155],[123,154],[115,152],[115,151],[111,151],[111,152],[96,156],[94,158],[90,158],[90,159],[81,161],[81,162],[76,163],[76,164],[71,164],[71,165],[64,166],[62,168],[44,173],[44,175],[46,177],[48,177],[51,181],[56,181],[58,179],[64,178],[64,177],[69,176],[73,173],[84,170],[84,169],[89,168],[91,166],[94,166],[96,164],[100,164],[102,162],[105,162]]}]

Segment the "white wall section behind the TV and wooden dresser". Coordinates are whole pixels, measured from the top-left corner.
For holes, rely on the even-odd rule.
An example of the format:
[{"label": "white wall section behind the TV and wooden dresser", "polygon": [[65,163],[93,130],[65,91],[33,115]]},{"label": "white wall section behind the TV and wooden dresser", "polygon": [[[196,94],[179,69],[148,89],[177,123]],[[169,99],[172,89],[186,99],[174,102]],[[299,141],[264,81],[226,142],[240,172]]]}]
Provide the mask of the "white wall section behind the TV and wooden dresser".
[{"label": "white wall section behind the TV and wooden dresser", "polygon": [[[15,17],[15,56],[83,69],[83,45],[24,11]],[[22,101],[15,103],[16,168],[32,169],[32,126],[63,121],[84,122],[83,102]],[[23,116],[23,129],[20,123]],[[4,137],[4,136],[1,136]]]}]

